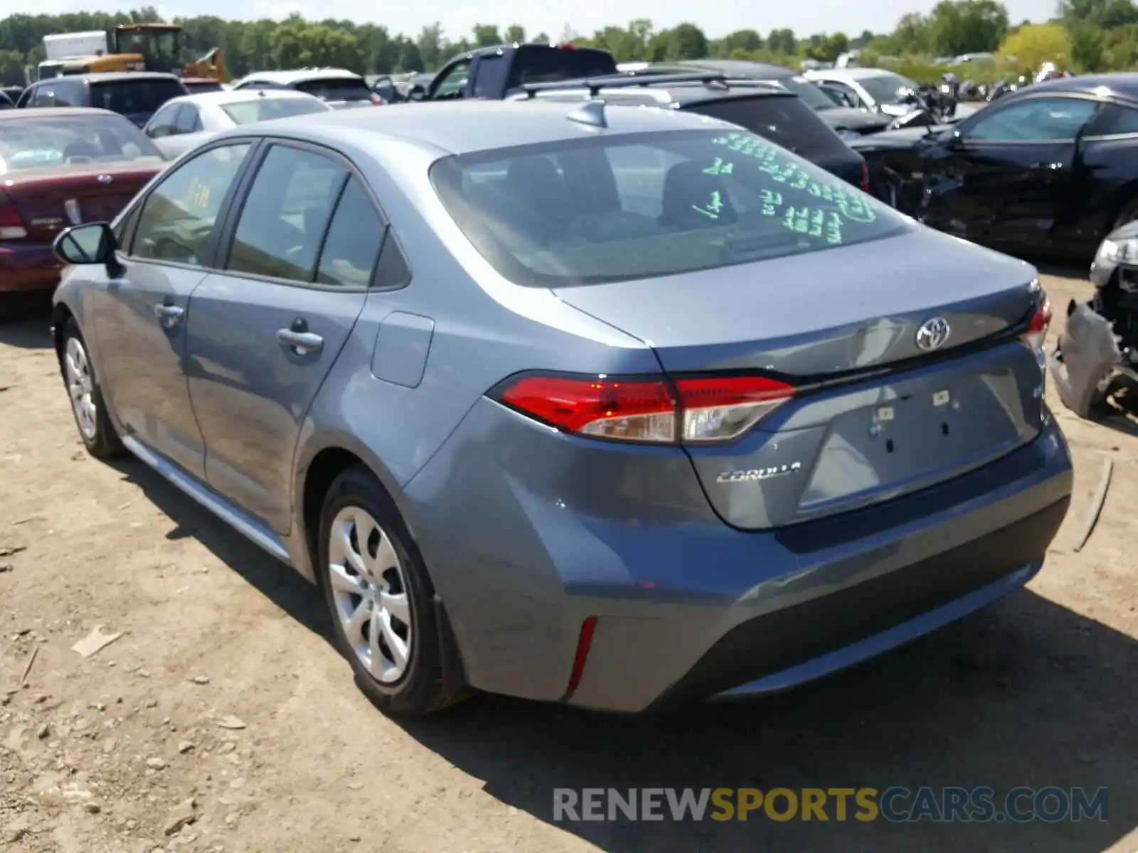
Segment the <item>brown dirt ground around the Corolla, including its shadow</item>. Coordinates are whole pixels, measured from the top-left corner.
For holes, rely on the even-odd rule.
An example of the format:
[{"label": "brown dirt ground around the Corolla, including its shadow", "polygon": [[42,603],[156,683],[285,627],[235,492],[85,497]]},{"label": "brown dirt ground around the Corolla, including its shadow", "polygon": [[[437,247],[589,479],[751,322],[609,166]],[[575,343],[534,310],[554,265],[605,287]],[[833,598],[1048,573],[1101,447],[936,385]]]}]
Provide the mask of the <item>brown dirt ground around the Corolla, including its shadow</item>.
[{"label": "brown dirt ground around the Corolla, including its shadow", "polygon": [[[1089,285],[1045,287],[1062,316]],[[46,324],[0,325],[2,850],[1138,851],[1124,419],[1053,400],[1075,496],[1042,573],[884,659],[682,715],[481,697],[409,723],[356,690],[298,575],[141,463],[85,456]],[[1113,482],[1077,554],[1104,455]],[[123,636],[83,659],[72,645],[96,626]],[[558,823],[552,808],[555,787],[892,785],[1105,786],[1108,820]]]}]

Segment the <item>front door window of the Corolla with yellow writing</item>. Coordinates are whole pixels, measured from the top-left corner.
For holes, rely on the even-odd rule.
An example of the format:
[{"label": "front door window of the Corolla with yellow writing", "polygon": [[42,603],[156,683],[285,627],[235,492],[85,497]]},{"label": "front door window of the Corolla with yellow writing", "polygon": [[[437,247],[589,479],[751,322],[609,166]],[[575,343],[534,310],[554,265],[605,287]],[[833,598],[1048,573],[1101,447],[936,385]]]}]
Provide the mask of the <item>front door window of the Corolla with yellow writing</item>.
[{"label": "front door window of the Corolla with yellow writing", "polygon": [[247,142],[212,148],[171,171],[143,202],[131,254],[201,264],[217,213],[250,148]]}]

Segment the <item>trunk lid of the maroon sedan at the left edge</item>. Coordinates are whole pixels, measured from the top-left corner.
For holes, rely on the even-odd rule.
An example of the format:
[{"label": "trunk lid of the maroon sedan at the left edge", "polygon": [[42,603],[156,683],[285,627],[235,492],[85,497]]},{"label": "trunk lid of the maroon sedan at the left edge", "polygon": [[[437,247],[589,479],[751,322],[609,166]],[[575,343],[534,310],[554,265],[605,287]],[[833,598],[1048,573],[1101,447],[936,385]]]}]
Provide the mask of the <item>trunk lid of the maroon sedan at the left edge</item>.
[{"label": "trunk lid of the maroon sedan at the left edge", "polygon": [[24,221],[30,242],[51,242],[56,234],[81,222],[109,222],[163,162],[83,164],[13,172],[5,192]]}]

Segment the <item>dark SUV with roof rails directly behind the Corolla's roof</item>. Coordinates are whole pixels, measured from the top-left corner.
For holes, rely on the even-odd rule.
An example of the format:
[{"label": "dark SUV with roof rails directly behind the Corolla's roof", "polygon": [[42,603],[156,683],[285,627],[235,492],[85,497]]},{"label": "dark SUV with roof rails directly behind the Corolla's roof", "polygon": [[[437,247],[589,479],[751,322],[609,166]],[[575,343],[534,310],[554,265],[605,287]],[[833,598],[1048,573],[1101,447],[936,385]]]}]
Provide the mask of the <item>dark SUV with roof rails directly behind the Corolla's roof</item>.
[{"label": "dark SUV with roof rails directly behind the Corolla's roof", "polygon": [[868,191],[865,158],[822,121],[797,94],[782,86],[723,74],[608,76],[564,83],[537,83],[510,100],[576,101],[597,98],[613,105],[643,105],[719,118],[769,139]]}]

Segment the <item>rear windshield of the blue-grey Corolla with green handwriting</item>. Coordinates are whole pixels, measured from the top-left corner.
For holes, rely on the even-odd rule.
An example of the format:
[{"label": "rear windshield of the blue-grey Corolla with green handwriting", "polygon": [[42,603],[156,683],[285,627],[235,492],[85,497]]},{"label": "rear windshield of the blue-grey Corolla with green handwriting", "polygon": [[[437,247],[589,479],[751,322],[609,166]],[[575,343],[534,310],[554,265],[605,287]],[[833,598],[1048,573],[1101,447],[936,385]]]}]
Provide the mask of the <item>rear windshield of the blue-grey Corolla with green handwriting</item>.
[{"label": "rear windshield of the blue-grey Corolla with green handwriting", "polygon": [[743,131],[459,155],[436,162],[430,177],[479,254],[530,287],[711,270],[907,227],[885,205]]}]

